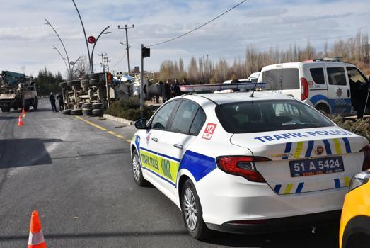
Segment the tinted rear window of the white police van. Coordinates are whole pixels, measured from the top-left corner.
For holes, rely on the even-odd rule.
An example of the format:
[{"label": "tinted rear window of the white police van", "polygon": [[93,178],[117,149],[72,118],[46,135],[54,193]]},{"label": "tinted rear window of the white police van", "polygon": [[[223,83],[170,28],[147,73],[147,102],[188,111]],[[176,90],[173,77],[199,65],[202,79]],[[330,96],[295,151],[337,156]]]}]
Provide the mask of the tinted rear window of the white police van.
[{"label": "tinted rear window of the white police van", "polygon": [[262,82],[267,90],[299,89],[299,70],[297,68],[272,69],[262,73]]}]

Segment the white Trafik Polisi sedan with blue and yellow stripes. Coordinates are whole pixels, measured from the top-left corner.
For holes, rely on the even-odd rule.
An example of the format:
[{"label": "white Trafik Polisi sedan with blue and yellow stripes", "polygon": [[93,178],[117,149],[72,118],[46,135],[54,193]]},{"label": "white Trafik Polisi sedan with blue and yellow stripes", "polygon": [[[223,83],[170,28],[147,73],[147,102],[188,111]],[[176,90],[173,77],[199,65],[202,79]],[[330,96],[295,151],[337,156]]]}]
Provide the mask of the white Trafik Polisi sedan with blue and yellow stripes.
[{"label": "white Trafik Polisi sedan with blue and yellow stripes", "polygon": [[365,137],[272,92],[179,96],[135,126],[134,181],[178,205],[196,239],[338,221],[349,179],[369,167]]}]

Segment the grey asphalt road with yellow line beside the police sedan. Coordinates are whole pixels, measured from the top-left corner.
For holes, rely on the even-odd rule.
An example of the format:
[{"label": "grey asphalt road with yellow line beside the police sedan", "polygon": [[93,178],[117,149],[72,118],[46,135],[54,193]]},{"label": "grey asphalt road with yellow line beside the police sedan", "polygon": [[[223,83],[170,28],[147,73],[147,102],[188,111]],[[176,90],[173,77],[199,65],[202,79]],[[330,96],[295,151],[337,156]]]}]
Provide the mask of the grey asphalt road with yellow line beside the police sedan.
[{"label": "grey asphalt road with yellow line beside the police sedan", "polygon": [[[134,129],[52,113],[46,100],[17,126],[0,113],[0,247],[25,247],[40,213],[48,247],[337,247],[337,226],[192,239],[180,210],[132,179]],[[95,124],[94,124],[95,123]],[[96,126],[98,125],[98,126]]]}]

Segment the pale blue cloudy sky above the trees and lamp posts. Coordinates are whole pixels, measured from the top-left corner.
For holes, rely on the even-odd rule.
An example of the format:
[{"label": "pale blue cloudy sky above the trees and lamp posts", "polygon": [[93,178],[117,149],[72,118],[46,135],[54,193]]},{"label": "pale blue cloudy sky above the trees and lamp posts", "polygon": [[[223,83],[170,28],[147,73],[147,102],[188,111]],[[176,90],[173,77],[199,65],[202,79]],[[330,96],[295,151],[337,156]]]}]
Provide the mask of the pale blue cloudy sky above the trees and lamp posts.
[{"label": "pale blue cloudy sky above the trees and lamp posts", "polygon": [[[106,53],[110,71],[127,71],[125,30],[129,29],[131,67],[140,64],[141,44],[151,45],[168,40],[218,16],[241,0],[75,0],[87,36],[98,36],[110,26],[111,33],[102,35],[96,43],[93,62],[95,72],[102,71],[101,57]],[[52,72],[67,69],[53,46],[64,50],[57,35],[45,18],[52,23],[69,55],[76,60],[87,55],[79,16],[71,0],[0,0],[0,71],[11,70],[37,76],[46,67]],[[183,38],[151,47],[151,57],[145,59],[144,69],[158,70],[163,60],[206,57],[213,62],[223,57],[228,62],[244,59],[245,47],[258,50],[289,44],[311,45],[323,50],[339,38],[349,38],[358,30],[370,33],[369,0],[248,0],[200,30]],[[91,52],[92,45],[90,45]],[[64,55],[65,56],[65,55]],[[123,57],[123,59],[122,59]]]}]

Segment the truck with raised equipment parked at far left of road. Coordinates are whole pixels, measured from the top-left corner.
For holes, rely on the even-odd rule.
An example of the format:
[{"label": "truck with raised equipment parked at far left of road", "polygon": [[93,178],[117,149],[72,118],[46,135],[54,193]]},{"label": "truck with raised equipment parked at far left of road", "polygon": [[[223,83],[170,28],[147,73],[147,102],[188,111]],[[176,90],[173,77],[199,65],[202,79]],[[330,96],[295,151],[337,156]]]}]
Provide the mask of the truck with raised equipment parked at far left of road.
[{"label": "truck with raised equipment parked at far left of road", "polygon": [[37,110],[38,97],[33,77],[17,72],[2,71],[0,80],[0,108],[2,112],[9,112],[11,108],[17,111],[30,106]]}]

